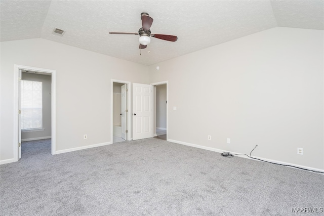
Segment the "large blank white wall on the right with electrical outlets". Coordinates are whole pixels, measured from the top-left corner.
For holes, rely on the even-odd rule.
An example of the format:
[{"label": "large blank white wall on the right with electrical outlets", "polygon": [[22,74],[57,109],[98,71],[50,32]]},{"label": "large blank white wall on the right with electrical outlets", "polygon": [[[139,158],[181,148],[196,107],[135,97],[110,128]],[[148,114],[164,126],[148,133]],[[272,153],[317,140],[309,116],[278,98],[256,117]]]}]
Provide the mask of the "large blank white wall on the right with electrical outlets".
[{"label": "large blank white wall on the right with electrical outlets", "polygon": [[324,169],[323,58],[322,30],[278,27],[151,65],[149,82],[169,81],[170,140]]}]

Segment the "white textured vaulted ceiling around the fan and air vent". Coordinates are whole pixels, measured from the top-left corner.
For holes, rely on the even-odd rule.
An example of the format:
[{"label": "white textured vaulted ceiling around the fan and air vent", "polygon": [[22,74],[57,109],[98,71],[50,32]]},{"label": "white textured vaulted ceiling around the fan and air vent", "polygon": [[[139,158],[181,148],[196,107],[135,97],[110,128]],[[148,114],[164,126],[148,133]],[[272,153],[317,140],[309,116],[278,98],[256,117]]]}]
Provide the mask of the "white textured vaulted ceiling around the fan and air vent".
[{"label": "white textured vaulted ceiling around the fan and air vent", "polygon": [[[154,19],[140,56],[140,14]],[[323,1],[3,1],[1,41],[45,38],[120,59],[151,65],[273,27],[323,30]],[[63,36],[53,29],[65,30]]]}]

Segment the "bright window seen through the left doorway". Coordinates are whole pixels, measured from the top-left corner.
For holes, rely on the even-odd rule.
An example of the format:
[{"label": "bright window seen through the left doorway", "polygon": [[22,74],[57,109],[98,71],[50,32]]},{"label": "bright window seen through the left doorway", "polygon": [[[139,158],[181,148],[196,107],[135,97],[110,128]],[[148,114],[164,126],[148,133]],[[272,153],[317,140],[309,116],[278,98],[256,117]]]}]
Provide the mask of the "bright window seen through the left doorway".
[{"label": "bright window seen through the left doorway", "polygon": [[21,129],[43,127],[43,82],[21,80]]}]

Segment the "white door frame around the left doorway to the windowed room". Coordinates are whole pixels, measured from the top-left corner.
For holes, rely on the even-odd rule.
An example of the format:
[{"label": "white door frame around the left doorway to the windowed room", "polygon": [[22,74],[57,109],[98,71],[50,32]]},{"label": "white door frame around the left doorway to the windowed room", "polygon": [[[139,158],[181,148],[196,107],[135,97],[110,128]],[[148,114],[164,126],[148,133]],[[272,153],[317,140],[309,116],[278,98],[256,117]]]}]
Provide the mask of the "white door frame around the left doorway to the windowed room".
[{"label": "white door frame around the left doorway to the windowed room", "polygon": [[50,73],[52,76],[52,132],[51,132],[51,139],[52,139],[52,147],[51,147],[51,154],[56,154],[56,70],[51,69],[44,69],[44,68],[37,68],[37,67],[30,67],[24,65],[14,65],[14,161],[19,160],[19,70],[31,70],[41,73]]}]

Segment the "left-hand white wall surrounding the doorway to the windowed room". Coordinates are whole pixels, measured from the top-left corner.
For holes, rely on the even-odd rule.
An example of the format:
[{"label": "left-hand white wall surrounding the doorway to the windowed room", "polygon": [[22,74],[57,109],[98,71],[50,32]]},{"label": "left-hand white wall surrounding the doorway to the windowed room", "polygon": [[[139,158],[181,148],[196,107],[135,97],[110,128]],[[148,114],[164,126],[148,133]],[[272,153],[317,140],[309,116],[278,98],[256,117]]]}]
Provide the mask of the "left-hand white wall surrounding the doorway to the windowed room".
[{"label": "left-hand white wall surrounding the doorway to the windowed room", "polygon": [[1,42],[2,161],[14,156],[14,64],[56,70],[56,151],[111,142],[110,80],[148,83],[144,65],[46,39]]}]

